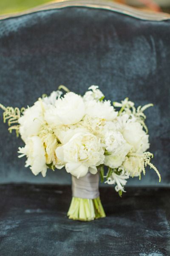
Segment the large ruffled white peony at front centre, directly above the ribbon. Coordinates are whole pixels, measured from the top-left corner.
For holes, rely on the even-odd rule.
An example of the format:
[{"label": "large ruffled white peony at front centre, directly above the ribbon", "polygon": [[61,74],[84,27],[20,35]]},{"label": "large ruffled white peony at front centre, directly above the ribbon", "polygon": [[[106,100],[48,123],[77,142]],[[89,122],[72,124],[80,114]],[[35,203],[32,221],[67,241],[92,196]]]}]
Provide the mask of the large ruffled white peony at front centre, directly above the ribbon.
[{"label": "large ruffled white peony at front centre, directly above the ribbon", "polygon": [[75,134],[65,145],[56,149],[57,158],[65,163],[65,169],[77,178],[85,176],[88,170],[96,174],[97,168],[104,162],[104,149],[91,133]]}]

